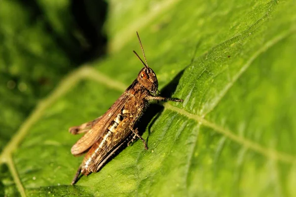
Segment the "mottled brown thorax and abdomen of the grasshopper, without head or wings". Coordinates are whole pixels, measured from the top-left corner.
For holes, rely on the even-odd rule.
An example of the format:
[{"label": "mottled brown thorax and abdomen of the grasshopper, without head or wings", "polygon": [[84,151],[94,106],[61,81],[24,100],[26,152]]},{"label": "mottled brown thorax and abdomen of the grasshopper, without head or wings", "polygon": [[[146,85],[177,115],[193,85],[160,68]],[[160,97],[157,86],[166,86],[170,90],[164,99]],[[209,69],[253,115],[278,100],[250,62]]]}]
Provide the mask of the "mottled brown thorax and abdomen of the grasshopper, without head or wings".
[{"label": "mottled brown thorax and abdomen of the grasshopper, without head or wings", "polygon": [[88,175],[91,172],[96,172],[105,164],[102,161],[132,133],[130,128],[134,128],[136,120],[148,106],[148,100],[144,99],[149,94],[148,91],[141,89],[141,84],[136,80],[132,87],[123,93],[130,95],[130,97],[115,118],[115,120],[119,120],[117,117],[121,117],[122,120],[113,120],[111,127],[91,147],[83,159],[81,174]]}]

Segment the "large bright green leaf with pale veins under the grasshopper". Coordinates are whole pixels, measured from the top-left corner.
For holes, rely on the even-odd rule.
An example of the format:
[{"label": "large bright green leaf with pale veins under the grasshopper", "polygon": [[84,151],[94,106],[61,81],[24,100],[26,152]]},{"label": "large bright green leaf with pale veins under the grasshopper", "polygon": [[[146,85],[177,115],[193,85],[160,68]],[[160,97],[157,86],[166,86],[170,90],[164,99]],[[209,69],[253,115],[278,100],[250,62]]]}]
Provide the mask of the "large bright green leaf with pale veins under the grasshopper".
[{"label": "large bright green leaf with pale veins under the grasshopper", "polygon": [[[112,1],[111,55],[65,76],[24,121],[0,155],[0,194],[295,196],[295,10],[274,0]],[[138,140],[71,186],[82,158],[67,130],[102,115],[135,79],[135,30],[160,92],[184,102],[146,111],[148,151]]]}]

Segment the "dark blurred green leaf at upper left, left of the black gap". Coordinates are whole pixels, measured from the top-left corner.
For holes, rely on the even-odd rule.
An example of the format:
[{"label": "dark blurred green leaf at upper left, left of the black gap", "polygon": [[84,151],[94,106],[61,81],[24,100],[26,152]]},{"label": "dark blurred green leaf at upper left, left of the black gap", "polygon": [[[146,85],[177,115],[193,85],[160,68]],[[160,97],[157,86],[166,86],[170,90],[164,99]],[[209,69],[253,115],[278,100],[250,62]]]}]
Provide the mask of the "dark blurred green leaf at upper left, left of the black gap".
[{"label": "dark blurred green leaf at upper left, left of the black gap", "polygon": [[[17,0],[0,2],[0,150],[71,68],[46,20]],[[12,14],[13,13],[13,14]]]}]

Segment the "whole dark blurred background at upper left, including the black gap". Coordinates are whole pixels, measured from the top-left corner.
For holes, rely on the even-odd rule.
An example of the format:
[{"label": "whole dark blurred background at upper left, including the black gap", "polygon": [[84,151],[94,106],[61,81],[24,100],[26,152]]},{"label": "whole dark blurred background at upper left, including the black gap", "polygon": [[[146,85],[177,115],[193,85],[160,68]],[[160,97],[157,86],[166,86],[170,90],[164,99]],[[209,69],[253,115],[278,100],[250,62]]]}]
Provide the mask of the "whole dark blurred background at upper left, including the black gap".
[{"label": "whole dark blurred background at upper left, including the black gap", "polygon": [[102,0],[0,2],[0,149],[74,68],[106,53]]}]

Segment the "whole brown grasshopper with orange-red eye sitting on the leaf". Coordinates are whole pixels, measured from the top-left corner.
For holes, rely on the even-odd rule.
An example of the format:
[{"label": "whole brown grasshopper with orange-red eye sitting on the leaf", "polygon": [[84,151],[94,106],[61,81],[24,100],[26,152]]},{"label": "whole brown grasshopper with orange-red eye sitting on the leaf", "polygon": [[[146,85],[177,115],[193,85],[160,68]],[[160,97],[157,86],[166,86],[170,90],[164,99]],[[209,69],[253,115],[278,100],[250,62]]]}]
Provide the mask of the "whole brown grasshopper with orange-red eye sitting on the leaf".
[{"label": "whole brown grasshopper with orange-red eye sitting on the leaf", "polygon": [[87,152],[74,176],[72,185],[76,183],[80,173],[87,176],[92,172],[99,171],[111,156],[126,143],[126,140],[128,140],[127,145],[129,145],[138,137],[143,141],[145,149],[148,149],[146,141],[138,133],[138,128],[134,127],[148,107],[149,100],[183,101],[182,99],[155,96],[158,91],[158,81],[154,71],[148,66],[138,32],[137,36],[146,62],[145,64],[139,55],[133,51],[144,65],[137,79],[104,115],[69,129],[72,134],[86,132],[71,148],[71,153],[74,156]]}]

